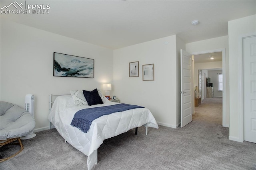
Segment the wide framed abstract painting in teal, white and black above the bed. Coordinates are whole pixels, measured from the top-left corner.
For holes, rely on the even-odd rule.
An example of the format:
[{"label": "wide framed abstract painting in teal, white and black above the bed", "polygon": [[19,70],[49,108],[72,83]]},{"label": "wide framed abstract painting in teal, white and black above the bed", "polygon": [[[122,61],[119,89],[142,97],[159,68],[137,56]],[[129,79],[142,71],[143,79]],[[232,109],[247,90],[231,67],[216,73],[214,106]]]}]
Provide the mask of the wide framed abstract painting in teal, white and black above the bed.
[{"label": "wide framed abstract painting in teal, white and black above the bed", "polygon": [[94,59],[54,52],[53,76],[94,78]]}]

